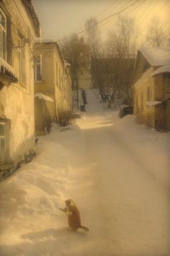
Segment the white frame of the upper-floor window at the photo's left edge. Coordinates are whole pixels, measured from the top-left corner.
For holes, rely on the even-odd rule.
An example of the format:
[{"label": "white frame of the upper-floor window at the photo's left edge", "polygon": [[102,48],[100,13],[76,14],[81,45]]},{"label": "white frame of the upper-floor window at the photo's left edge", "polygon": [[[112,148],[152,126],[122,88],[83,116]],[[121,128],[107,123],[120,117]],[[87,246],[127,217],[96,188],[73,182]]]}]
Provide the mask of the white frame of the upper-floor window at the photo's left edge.
[{"label": "white frame of the upper-floor window at the photo's left edge", "polygon": [[[2,49],[0,49],[0,58],[2,58],[4,61],[6,61],[6,52],[7,52],[7,50],[6,50],[6,15],[4,14],[4,12],[2,12],[1,8],[0,8],[0,14],[5,19],[4,26],[1,25],[1,23],[0,23],[0,28],[1,28],[0,42],[1,42],[1,48],[2,48]],[[5,40],[4,40],[4,35],[5,35]],[[5,56],[4,56],[4,48],[5,48]]]}]

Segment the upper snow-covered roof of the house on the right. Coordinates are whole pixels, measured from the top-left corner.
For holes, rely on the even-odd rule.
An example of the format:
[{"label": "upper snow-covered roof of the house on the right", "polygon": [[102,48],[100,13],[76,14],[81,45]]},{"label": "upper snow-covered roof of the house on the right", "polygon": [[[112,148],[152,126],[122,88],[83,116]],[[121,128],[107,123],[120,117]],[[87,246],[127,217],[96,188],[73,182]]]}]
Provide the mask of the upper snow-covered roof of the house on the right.
[{"label": "upper snow-covered roof of the house on the right", "polygon": [[170,65],[170,47],[140,48],[139,51],[151,66]]}]

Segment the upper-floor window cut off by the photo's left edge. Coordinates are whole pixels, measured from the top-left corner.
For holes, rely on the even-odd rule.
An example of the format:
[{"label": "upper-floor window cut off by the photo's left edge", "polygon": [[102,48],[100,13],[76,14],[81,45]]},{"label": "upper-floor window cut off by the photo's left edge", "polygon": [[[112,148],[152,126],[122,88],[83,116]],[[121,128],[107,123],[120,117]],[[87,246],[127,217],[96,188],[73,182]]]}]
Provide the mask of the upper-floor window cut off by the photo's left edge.
[{"label": "upper-floor window cut off by the photo's left edge", "polygon": [[0,57],[6,61],[6,17],[0,9]]}]

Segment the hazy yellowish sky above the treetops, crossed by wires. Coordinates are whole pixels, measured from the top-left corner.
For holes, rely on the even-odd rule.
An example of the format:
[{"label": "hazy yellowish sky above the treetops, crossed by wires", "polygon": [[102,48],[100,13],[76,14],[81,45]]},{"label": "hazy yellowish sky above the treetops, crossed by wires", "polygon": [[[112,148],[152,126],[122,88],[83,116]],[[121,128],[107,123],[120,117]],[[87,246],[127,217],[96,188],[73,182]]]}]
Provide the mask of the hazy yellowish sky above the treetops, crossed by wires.
[{"label": "hazy yellowish sky above the treetops, crossed by wires", "polygon": [[[97,17],[98,21],[135,2],[135,0],[33,0],[40,19],[44,39],[60,40],[66,35],[84,29],[86,19]],[[141,30],[154,14],[163,21],[169,17],[170,0],[139,0],[122,12],[135,17]],[[114,27],[116,18],[106,19],[100,30],[104,38]],[[166,22],[167,24],[168,22]]]}]

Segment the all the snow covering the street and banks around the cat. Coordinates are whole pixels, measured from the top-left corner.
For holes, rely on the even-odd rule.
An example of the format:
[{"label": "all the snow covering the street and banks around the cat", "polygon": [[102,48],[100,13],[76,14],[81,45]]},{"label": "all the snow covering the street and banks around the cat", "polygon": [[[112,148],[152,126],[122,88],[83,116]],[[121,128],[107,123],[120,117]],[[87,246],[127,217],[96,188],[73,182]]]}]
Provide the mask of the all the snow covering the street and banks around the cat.
[{"label": "all the snow covering the street and banks around the cat", "polygon": [[[0,183],[0,255],[169,255],[169,133],[89,105],[40,137],[37,157]],[[59,211],[72,198],[90,231]]]}]

